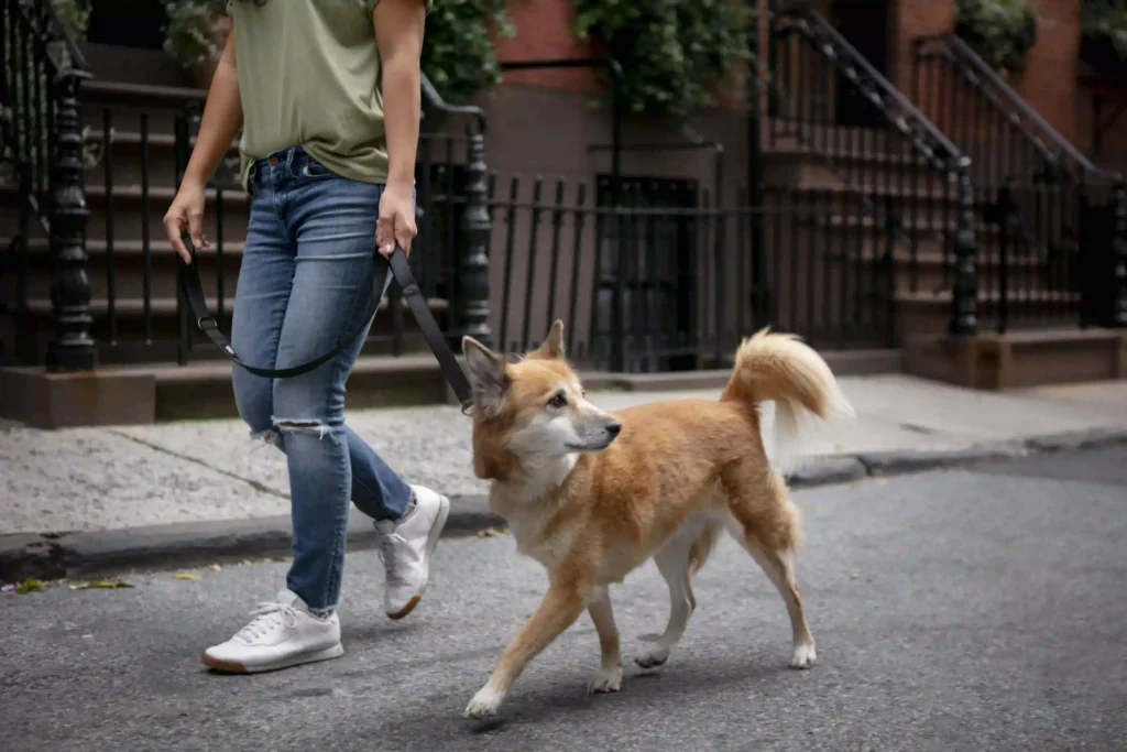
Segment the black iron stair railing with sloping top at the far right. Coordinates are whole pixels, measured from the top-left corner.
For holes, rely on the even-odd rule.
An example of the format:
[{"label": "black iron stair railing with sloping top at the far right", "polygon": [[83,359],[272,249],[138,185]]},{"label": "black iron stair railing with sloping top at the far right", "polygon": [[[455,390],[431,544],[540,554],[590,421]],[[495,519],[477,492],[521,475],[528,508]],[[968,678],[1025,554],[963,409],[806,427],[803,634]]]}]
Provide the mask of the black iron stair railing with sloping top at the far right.
[{"label": "black iron stair railing with sloping top at the far right", "polygon": [[913,98],[967,153],[984,318],[1013,327],[1127,326],[1122,176],[1066,141],[955,35],[914,41]]}]

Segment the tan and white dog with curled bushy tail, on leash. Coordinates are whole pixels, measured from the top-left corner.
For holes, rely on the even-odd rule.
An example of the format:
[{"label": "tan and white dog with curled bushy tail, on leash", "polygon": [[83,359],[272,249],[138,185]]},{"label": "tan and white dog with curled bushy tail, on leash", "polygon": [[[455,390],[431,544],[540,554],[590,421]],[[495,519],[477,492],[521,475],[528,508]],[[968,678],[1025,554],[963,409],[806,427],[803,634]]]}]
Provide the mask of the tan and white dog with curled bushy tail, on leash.
[{"label": "tan and white dog with curled bushy tail, on leash", "polygon": [[696,607],[692,576],[725,530],[782,595],[793,634],[790,665],[814,664],[795,578],[800,514],[760,431],[767,400],[775,404],[777,435],[790,443],[804,417],[852,415],[814,350],[763,329],[739,345],[719,401],[655,402],[614,414],[586,400],[567,361],[562,321],[523,357],[494,353],[472,337],[462,352],[473,391],[474,475],[491,481],[489,505],[508,523],[517,550],[549,573],[543,602],[465,717],[496,715],[527,662],[584,609],[602,648],[588,691],[618,691],[622,665],[607,587],[651,557],[669,587],[669,620],[636,662],[665,663]]}]

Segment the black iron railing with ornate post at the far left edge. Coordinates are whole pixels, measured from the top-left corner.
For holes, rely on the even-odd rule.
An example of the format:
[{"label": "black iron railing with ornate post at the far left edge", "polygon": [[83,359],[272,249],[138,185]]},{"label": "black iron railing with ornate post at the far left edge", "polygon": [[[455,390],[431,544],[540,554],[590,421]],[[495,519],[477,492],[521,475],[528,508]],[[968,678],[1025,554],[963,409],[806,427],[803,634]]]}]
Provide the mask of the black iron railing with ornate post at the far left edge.
[{"label": "black iron railing with ornate post at the far left edge", "polygon": [[[6,214],[18,218],[2,224],[2,312],[12,317],[18,351],[3,355],[45,362],[53,371],[91,370],[97,351],[89,334],[89,210],[79,99],[89,68],[46,0],[0,2],[0,162],[8,172],[0,189],[3,203],[16,209]],[[47,257],[41,250],[33,259],[33,241],[44,239]],[[30,336],[27,326],[35,262],[50,267],[51,334],[45,338]]]}]

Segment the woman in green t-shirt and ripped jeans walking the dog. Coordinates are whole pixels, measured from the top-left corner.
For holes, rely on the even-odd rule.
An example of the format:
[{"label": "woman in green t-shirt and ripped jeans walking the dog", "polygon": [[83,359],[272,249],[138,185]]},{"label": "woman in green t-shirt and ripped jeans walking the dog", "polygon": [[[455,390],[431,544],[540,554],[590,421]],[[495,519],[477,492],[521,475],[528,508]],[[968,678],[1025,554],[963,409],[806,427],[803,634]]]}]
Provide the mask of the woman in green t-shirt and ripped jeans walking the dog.
[{"label": "woman in green t-shirt and ripped jeans walking the dog", "polygon": [[[369,307],[373,248],[410,248],[419,51],[431,2],[228,2],[232,30],[165,227],[186,262],[181,233],[196,249],[208,247],[204,186],[241,126],[251,198],[232,344],[248,363],[282,369],[337,346]],[[450,502],[406,484],[345,425],[345,380],[363,340],[293,379],[233,370],[251,435],[286,455],[293,565],[274,602],[204,652],[213,669],[268,671],[341,655],[349,501],[382,534],[388,616],[407,616],[426,589]]]}]

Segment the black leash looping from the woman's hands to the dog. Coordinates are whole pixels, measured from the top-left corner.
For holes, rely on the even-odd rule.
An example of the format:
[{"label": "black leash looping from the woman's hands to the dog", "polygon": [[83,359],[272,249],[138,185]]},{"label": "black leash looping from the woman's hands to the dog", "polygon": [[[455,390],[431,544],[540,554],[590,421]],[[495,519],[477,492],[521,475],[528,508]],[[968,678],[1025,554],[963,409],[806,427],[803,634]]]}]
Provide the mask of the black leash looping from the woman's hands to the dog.
[{"label": "black leash looping from the woman's hands to the dog", "polygon": [[[192,247],[192,240],[187,236],[183,238],[186,247]],[[363,321],[356,330],[353,331],[348,337],[346,337],[339,345],[334,347],[331,351],[314,357],[308,363],[302,363],[301,365],[294,365],[287,369],[266,369],[257,365],[250,365],[245,363],[234,352],[231,346],[231,340],[227,338],[219,328],[219,322],[207,310],[207,300],[204,298],[203,285],[199,283],[199,273],[196,272],[195,264],[185,264],[184,259],[180,259],[180,280],[184,284],[184,295],[187,298],[188,308],[192,309],[192,316],[196,320],[196,326],[199,330],[207,335],[207,338],[212,343],[223,351],[234,364],[241,366],[242,369],[254,373],[255,375],[264,377],[266,379],[291,379],[303,373],[309,373],[313,369],[327,363],[332,357],[338,355],[345,347],[352,344],[356,337],[358,337],[367,326],[375,319],[376,312],[380,310],[380,300],[383,298],[383,287],[388,280],[388,272],[390,269],[391,274],[394,276],[396,282],[399,283],[399,289],[403,293],[403,298],[407,299],[407,303],[411,308],[411,313],[415,316],[415,320],[418,322],[419,328],[423,329],[423,336],[426,337],[427,344],[431,345],[431,350],[434,352],[436,359],[438,359],[438,365],[442,368],[443,374],[450,382],[450,386],[454,389],[454,395],[458,396],[458,401],[462,405],[462,412],[468,413],[472,402],[473,395],[470,390],[470,382],[465,380],[465,374],[462,372],[462,368],[458,364],[454,359],[454,353],[451,352],[450,347],[446,345],[446,339],[443,337],[442,329],[438,328],[438,322],[434,320],[434,316],[431,313],[431,308],[426,303],[426,299],[423,297],[423,291],[419,290],[418,282],[415,281],[415,275],[411,274],[411,267],[407,263],[407,254],[403,249],[396,244],[396,250],[391,254],[389,259],[383,254],[373,250],[376,258],[376,272],[375,272],[375,290],[372,293],[372,304],[369,308],[367,316],[364,317]]]}]

